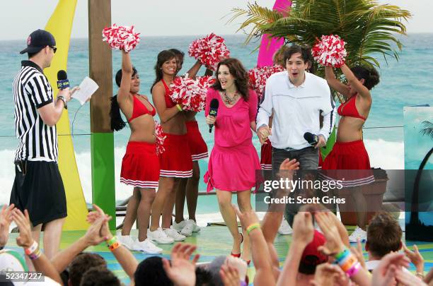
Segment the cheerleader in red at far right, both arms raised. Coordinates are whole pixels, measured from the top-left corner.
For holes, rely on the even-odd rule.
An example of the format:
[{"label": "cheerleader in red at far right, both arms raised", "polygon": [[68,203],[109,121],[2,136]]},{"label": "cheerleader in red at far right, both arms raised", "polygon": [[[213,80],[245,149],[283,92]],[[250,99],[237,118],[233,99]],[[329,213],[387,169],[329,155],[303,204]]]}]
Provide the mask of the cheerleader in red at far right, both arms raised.
[{"label": "cheerleader in red at far right, both arms raised", "polygon": [[[374,181],[369,155],[362,141],[362,126],[369,116],[372,102],[370,90],[379,83],[379,73],[374,68],[363,66],[349,68],[344,65],[341,70],[347,79],[347,85],[335,78],[332,67],[325,67],[326,81],[331,88],[345,96],[346,101],[337,109],[341,116],[337,142],[325,158],[322,169],[325,170],[325,175],[331,174],[326,170],[343,170],[335,172],[337,176],[330,177],[345,177],[343,186],[352,189],[352,196],[357,202],[357,228],[350,236],[350,241],[356,242],[357,238],[366,239],[366,201],[359,186]],[[358,171],[344,171],[355,169]]]}]

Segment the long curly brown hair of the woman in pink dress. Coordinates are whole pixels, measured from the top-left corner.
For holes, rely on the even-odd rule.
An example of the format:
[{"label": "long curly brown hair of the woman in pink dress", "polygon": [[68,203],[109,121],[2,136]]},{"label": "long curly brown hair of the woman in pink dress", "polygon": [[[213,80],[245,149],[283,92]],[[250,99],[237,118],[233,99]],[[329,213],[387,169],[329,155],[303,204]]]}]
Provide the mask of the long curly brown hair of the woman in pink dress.
[{"label": "long curly brown hair of the woman in pink dress", "polygon": [[217,71],[215,71],[215,77],[217,78],[217,81],[215,81],[214,85],[212,85],[212,88],[214,88],[215,90],[223,90],[221,88],[221,83],[218,79],[218,71],[220,66],[227,66],[229,68],[230,74],[233,76],[233,78],[235,78],[235,85],[238,93],[241,93],[243,100],[248,101],[250,88],[248,73],[243,67],[241,61],[239,61],[238,59],[229,58],[223,59],[219,62],[217,66]]}]

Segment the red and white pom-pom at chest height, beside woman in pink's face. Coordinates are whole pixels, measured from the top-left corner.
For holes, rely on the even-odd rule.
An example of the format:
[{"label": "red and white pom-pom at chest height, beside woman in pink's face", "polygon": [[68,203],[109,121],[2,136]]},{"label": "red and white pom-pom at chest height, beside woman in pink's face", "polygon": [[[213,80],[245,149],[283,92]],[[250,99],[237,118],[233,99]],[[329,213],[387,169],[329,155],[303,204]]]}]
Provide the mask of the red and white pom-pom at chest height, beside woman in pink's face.
[{"label": "red and white pom-pom at chest height, beside woman in pink's face", "polygon": [[168,96],[176,104],[183,106],[184,110],[201,112],[206,103],[207,89],[214,84],[213,76],[188,78],[188,75],[178,76],[171,83]]}]

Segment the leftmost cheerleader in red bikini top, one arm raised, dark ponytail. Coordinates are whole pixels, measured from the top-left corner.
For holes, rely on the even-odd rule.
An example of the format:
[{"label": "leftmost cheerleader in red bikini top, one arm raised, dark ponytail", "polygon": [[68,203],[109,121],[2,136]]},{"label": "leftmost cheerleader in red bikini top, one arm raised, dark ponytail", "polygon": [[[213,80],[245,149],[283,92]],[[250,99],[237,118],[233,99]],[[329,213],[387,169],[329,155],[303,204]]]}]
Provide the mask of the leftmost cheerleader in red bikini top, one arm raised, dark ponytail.
[{"label": "leftmost cheerleader in red bikini top, one arm raised, dark ponytail", "polygon": [[[129,54],[122,52],[122,69],[116,74],[119,92],[112,98],[110,126],[119,131],[125,127],[120,117],[120,109],[128,119],[131,136],[125,156],[122,160],[120,181],[134,187],[129,199],[127,213],[122,228],[120,241],[131,250],[144,251],[148,254],[161,254],[162,249],[147,239],[147,226],[151,214],[151,204],[158,188],[159,160],[156,155],[156,138],[154,116],[155,107],[146,95],[139,95],[139,75],[132,67]],[[137,242],[129,237],[132,225],[139,216],[139,238]]]}]

